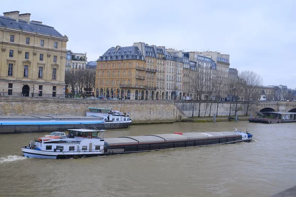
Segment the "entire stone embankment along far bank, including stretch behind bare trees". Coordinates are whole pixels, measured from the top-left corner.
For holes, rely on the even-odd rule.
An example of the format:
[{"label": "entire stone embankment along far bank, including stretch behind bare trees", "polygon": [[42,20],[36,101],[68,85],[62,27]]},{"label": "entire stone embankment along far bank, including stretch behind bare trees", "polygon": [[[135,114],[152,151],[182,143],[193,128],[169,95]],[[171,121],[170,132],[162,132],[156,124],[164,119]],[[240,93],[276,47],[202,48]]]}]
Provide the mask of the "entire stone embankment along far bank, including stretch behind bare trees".
[{"label": "entire stone embankment along far bank, including stretch behind bare trees", "polygon": [[[173,123],[173,122],[216,122],[228,121],[229,103],[201,103],[200,116],[204,118],[188,118],[198,115],[198,103],[192,106],[188,100],[100,100],[100,99],[59,99],[38,97],[1,97],[0,115],[73,115],[85,116],[88,107],[110,108],[130,114],[133,124]],[[235,114],[231,108],[231,115]],[[244,110],[239,110],[240,120]],[[209,117],[210,116],[210,117]],[[226,116],[226,117],[225,117]],[[247,118],[245,118],[247,120]]]}]

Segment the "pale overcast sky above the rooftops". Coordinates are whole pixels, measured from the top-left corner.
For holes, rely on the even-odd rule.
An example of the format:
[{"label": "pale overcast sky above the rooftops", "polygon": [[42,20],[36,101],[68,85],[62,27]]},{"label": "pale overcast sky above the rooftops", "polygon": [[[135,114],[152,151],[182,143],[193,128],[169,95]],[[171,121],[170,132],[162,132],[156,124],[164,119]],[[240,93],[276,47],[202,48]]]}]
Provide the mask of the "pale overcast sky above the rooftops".
[{"label": "pale overcast sky above the rooftops", "polygon": [[[263,85],[296,88],[296,0],[7,0],[0,11],[31,13],[69,37],[67,49],[95,61],[134,42],[219,51]],[[2,15],[2,14],[1,14]]]}]

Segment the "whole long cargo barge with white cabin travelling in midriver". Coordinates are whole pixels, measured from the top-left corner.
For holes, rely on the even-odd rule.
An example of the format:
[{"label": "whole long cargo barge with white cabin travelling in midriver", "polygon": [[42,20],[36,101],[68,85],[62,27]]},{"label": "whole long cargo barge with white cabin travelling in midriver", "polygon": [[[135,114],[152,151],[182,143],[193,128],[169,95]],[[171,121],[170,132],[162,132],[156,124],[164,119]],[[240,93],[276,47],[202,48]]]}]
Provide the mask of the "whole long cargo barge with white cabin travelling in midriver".
[{"label": "whole long cargo barge with white cabin travelling in midriver", "polygon": [[72,129],[65,138],[41,137],[22,147],[24,157],[70,159],[148,152],[171,148],[250,142],[248,131],[174,132],[116,138],[100,137],[99,130]]}]

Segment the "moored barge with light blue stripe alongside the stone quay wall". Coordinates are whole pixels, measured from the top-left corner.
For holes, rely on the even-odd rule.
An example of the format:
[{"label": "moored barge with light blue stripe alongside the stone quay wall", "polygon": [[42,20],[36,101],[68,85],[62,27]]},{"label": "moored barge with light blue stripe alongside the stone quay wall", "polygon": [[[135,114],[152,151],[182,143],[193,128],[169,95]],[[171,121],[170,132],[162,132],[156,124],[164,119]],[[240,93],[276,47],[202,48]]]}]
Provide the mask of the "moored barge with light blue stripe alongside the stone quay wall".
[{"label": "moored barge with light blue stripe alongside the stone quay wall", "polygon": [[102,118],[97,116],[0,116],[0,134],[67,131],[73,128],[100,130],[127,128],[132,123],[129,116]]}]

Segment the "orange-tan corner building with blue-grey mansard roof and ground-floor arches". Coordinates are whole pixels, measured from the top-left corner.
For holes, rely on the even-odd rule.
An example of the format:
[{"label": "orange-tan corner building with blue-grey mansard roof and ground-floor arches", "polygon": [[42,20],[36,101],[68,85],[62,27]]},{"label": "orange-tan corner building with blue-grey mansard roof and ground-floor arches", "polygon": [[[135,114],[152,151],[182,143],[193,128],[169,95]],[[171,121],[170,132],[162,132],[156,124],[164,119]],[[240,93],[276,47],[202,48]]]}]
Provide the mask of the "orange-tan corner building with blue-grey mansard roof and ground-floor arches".
[{"label": "orange-tan corner building with blue-grey mansard roof and ground-floor arches", "polygon": [[147,81],[150,85],[153,81],[146,79],[147,74],[145,57],[137,46],[111,47],[97,60],[96,96],[144,99]]}]

